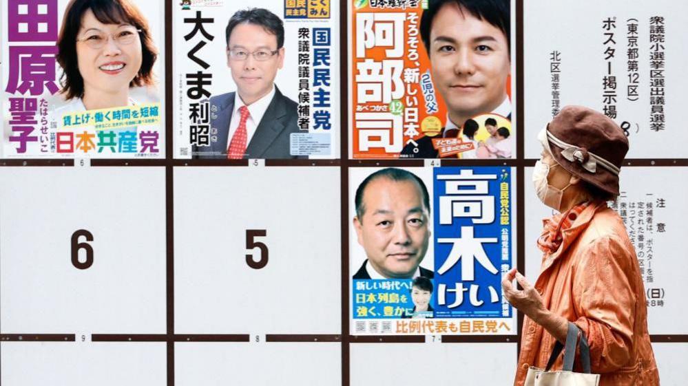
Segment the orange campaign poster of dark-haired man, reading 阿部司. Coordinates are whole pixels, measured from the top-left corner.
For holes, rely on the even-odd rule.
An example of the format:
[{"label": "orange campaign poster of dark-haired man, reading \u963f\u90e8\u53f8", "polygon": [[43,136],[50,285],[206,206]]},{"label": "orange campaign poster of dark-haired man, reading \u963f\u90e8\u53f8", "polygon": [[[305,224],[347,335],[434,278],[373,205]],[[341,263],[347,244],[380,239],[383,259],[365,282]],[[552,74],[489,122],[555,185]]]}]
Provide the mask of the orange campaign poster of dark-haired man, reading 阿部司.
[{"label": "orange campaign poster of dark-haired man, reading \u963f\u90e8\u53f8", "polygon": [[352,158],[516,158],[510,0],[349,0]]}]

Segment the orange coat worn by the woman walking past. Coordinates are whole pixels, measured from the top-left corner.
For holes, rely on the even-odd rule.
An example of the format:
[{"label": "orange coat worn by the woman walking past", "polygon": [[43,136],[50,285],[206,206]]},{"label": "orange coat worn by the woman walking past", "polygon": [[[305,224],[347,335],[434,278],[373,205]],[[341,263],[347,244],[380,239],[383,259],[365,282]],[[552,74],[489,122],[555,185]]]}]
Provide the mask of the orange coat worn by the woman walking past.
[{"label": "orange coat worn by the woman walking past", "polygon": [[[545,307],[585,333],[600,386],[659,385],[643,279],[621,217],[604,202],[592,203],[562,230],[562,238],[555,253],[543,256],[534,284]],[[528,367],[547,365],[555,341],[528,317],[521,335],[516,386],[523,385]],[[561,367],[559,356],[553,369]]]}]

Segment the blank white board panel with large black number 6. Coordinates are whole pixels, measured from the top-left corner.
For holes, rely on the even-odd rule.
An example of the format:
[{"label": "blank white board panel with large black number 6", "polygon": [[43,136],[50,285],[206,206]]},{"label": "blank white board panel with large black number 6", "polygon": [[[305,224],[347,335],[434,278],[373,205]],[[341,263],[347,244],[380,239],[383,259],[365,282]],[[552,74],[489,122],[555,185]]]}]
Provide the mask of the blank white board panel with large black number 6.
[{"label": "blank white board panel with large black number 6", "polygon": [[0,181],[3,333],[165,332],[164,168],[4,167]]}]

